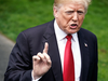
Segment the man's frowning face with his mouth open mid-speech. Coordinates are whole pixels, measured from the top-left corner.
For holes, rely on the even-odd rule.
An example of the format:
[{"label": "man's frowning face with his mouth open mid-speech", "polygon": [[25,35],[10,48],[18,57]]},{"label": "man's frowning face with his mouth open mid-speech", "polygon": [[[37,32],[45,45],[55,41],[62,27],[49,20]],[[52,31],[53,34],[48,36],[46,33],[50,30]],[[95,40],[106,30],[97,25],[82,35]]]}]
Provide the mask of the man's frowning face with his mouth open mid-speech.
[{"label": "man's frowning face with his mouth open mid-speech", "polygon": [[79,31],[85,15],[84,5],[77,2],[63,3],[60,8],[54,8],[55,19],[66,33]]}]

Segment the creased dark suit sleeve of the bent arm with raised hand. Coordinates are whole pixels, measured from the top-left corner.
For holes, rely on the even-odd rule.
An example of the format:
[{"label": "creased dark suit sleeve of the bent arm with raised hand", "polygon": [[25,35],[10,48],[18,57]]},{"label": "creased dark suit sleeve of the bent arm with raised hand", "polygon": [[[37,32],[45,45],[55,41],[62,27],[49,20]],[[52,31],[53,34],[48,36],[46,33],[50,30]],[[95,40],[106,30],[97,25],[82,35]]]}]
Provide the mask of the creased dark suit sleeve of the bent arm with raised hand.
[{"label": "creased dark suit sleeve of the bent arm with raised hand", "polygon": [[9,66],[4,75],[4,81],[31,81],[32,56],[29,53],[29,44],[22,32],[10,55]]}]

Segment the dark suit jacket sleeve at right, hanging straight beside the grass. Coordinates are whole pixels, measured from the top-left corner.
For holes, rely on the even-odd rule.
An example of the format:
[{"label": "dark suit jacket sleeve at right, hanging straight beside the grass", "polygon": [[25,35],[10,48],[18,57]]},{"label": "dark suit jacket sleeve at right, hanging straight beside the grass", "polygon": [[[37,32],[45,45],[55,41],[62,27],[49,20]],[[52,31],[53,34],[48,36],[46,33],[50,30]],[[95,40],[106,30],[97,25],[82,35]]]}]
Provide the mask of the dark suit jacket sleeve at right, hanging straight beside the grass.
[{"label": "dark suit jacket sleeve at right, hanging straight beside the grass", "polygon": [[90,44],[90,66],[89,66],[89,76],[86,81],[97,81],[97,38],[96,36],[87,37],[91,41]]}]

